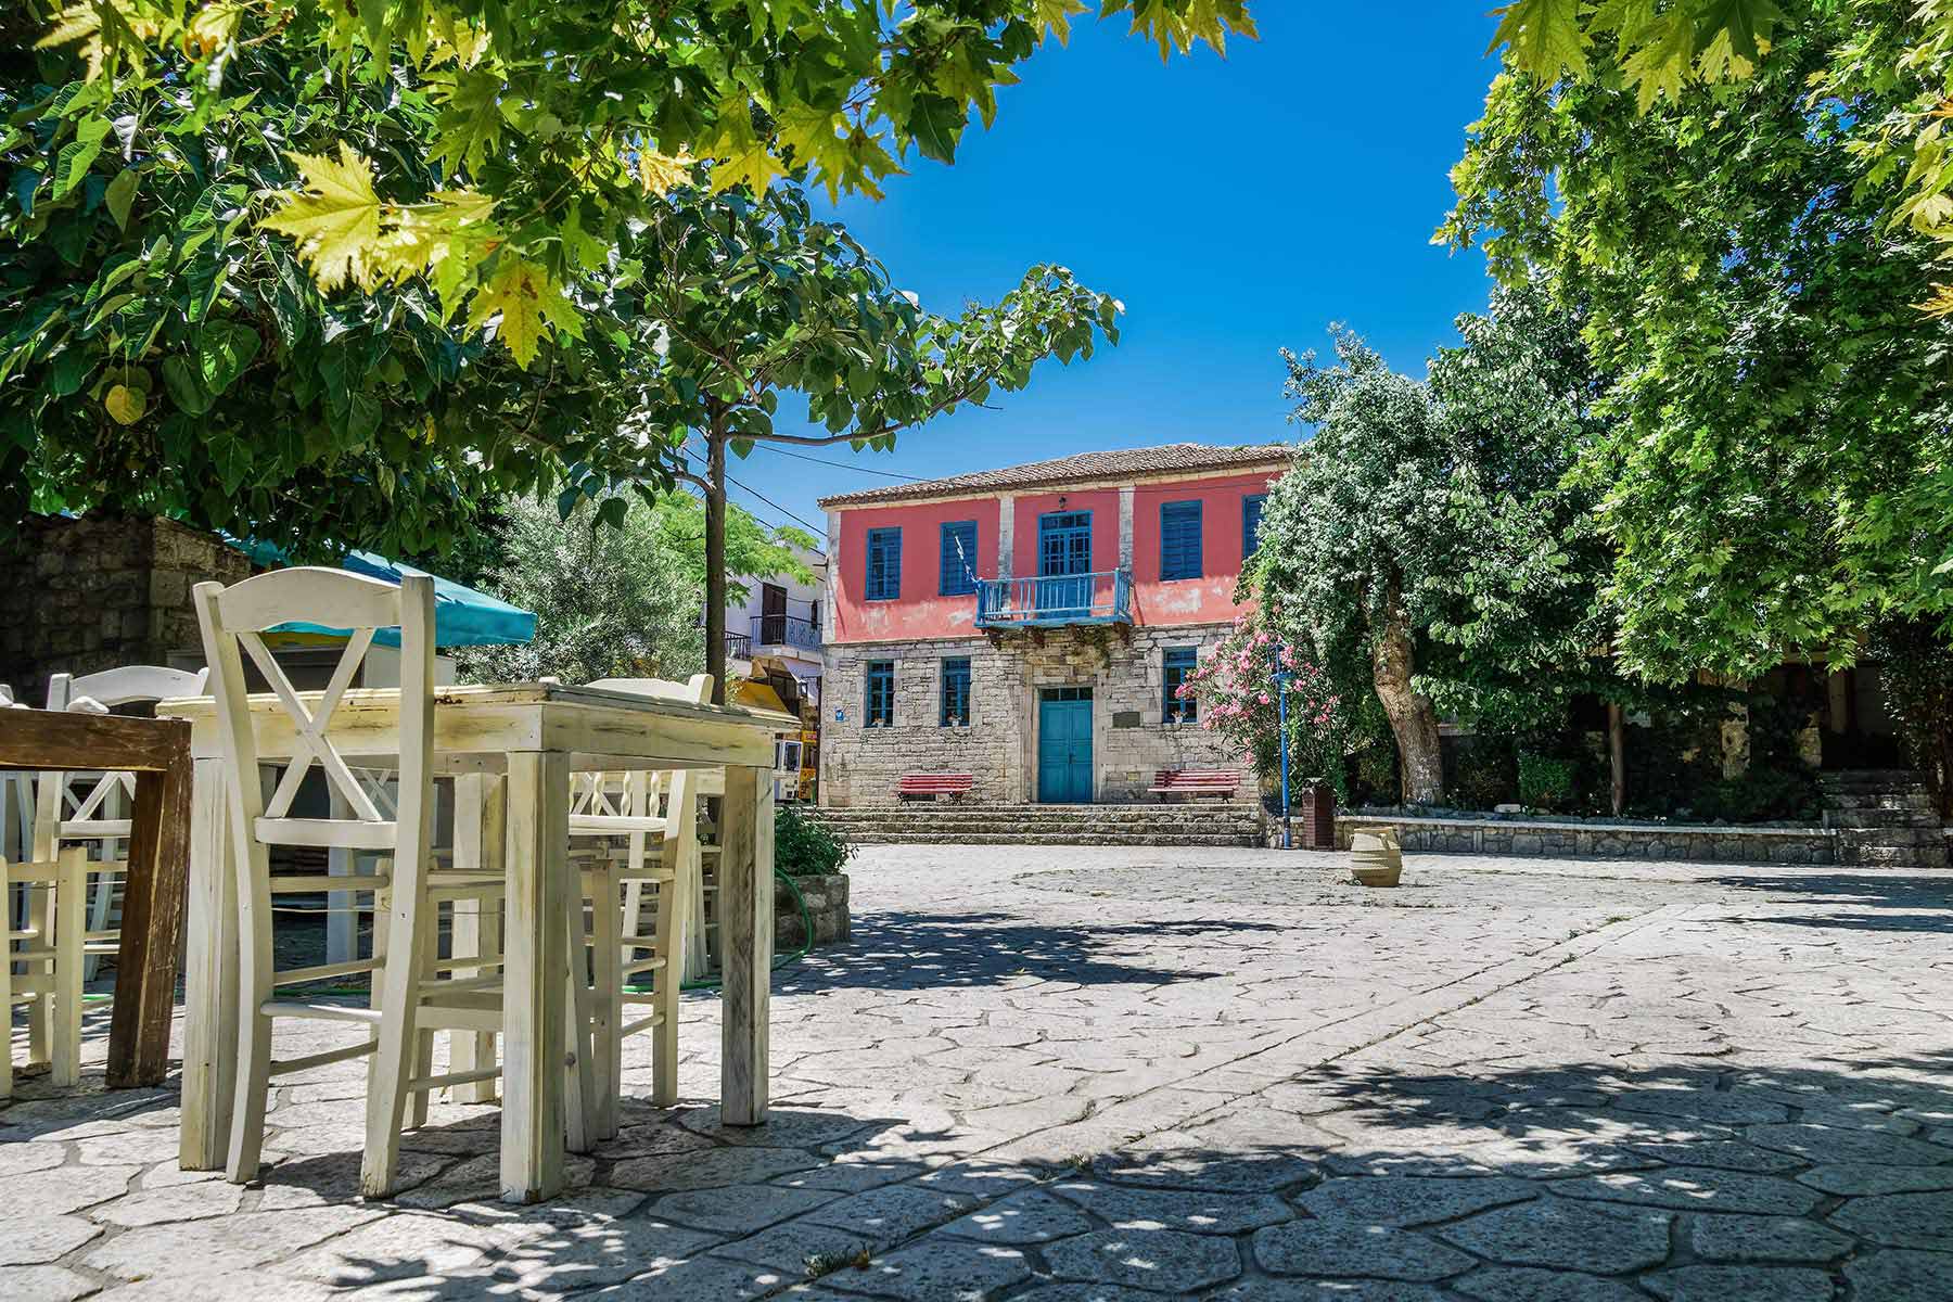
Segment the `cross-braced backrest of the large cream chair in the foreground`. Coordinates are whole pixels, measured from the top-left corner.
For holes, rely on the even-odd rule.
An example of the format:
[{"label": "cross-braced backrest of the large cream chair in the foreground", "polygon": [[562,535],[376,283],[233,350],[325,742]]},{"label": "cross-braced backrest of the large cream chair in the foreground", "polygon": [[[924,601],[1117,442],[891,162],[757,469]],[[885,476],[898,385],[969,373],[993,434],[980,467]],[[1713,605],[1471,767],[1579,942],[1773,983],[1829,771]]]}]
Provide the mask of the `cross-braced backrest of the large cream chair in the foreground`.
[{"label": "cross-braced backrest of the large cream chair in the foreground", "polygon": [[[193,597],[203,650],[211,662],[211,695],[232,777],[230,800],[240,843],[352,849],[426,845],[434,808],[434,580],[410,574],[395,588],[346,570],[293,568],[258,574],[230,588],[197,584]],[[316,707],[299,699],[264,644],[268,629],[291,623],[352,631]],[[379,629],[400,629],[396,818],[381,812],[365,783],[326,736],[332,712],[346,697]],[[270,798],[256,781],[238,781],[256,775],[260,763],[244,656],[258,666],[293,728],[291,763]],[[352,818],[291,818],[293,796],[314,763],[332,793],[352,810]],[[414,857],[418,865],[418,853]]]}]

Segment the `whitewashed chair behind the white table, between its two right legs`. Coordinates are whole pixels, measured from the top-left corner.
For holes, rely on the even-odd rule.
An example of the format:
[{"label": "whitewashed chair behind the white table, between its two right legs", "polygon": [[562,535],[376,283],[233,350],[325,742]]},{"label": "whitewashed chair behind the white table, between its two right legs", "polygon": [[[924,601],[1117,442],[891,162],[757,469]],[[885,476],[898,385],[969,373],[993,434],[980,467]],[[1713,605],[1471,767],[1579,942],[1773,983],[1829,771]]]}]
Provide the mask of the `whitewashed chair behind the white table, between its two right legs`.
[{"label": "whitewashed chair behind the white table, between its two right legs", "polygon": [[[668,701],[705,705],[709,673],[686,683],[656,677],[607,677],[590,683]],[[623,837],[621,855],[600,853],[584,873],[592,900],[592,1056],[596,1058],[598,1134],[617,1132],[623,1040],[652,1031],[652,1103],[678,1103],[678,994],[684,980],[686,910],[699,880],[697,793],[691,769],[670,773],[588,773],[570,793],[570,839]],[[660,812],[658,802],[664,800]],[[619,906],[619,886],[623,902]],[[648,892],[646,886],[656,888]],[[607,908],[605,908],[607,904]],[[635,990],[650,976],[652,988]],[[650,1005],[625,1019],[629,1005]]]}]

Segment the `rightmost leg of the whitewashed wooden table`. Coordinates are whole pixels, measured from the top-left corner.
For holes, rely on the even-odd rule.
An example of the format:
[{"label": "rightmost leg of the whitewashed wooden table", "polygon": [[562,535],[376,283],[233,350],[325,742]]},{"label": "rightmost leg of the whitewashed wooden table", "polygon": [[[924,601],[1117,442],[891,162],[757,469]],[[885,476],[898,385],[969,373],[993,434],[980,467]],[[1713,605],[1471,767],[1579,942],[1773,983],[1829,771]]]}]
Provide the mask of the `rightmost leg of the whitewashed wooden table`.
[{"label": "rightmost leg of the whitewashed wooden table", "polygon": [[768,1103],[773,978],[771,769],[727,765],[719,845],[719,945],[725,955],[719,1117],[728,1126],[758,1126]]}]

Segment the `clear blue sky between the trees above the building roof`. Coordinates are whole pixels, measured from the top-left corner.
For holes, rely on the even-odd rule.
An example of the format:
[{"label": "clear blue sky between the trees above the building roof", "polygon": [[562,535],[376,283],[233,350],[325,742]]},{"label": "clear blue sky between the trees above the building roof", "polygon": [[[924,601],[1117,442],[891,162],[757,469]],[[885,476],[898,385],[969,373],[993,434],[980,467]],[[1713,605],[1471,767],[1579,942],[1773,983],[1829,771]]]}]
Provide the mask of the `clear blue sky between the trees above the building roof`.
[{"label": "clear blue sky between the trees above the building roof", "polygon": [[[1338,320],[1422,375],[1457,338],[1451,320],[1486,301],[1482,258],[1430,236],[1494,72],[1490,2],[1252,8],[1260,41],[1164,66],[1123,23],[1080,20],[1068,49],[1047,43],[998,94],[996,125],[973,125],[955,166],[912,160],[883,201],[840,205],[924,306],[955,314],[1060,262],[1125,301],[1119,347],[1045,363],[1000,410],[932,422],[894,453],[795,449],[859,468],[758,447],[732,476],[818,523],[816,498],[894,482],[863,470],[1295,437],[1275,349],[1326,349]],[[789,410],[803,408],[783,396]]]}]

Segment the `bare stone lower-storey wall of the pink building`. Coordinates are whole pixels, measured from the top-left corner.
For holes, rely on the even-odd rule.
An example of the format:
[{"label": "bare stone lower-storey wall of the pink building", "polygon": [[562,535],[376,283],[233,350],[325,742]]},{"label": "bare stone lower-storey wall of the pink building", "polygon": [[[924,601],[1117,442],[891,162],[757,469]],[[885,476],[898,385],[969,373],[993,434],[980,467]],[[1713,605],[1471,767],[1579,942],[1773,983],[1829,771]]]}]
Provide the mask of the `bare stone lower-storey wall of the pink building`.
[{"label": "bare stone lower-storey wall of the pink building", "polygon": [[[1242,755],[1199,724],[1164,722],[1170,646],[1205,658],[1228,625],[1074,627],[920,642],[828,644],[820,720],[820,800],[894,804],[904,773],[971,773],[971,800],[1037,798],[1037,701],[1045,687],[1092,689],[1094,798],[1144,800],[1156,769],[1238,769]],[[971,662],[971,722],[941,726],[941,664]],[[894,664],[894,726],[863,728],[869,662]]]}]

